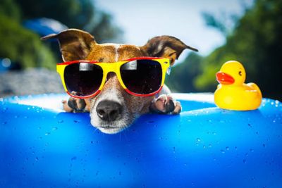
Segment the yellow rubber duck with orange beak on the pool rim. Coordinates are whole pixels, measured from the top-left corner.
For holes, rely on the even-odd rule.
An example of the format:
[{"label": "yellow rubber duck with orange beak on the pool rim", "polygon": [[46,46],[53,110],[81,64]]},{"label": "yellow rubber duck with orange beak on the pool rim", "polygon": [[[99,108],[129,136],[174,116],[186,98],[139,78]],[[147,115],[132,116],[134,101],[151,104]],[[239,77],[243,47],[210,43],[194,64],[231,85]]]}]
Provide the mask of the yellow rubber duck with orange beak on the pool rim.
[{"label": "yellow rubber duck with orange beak on the pool rim", "polygon": [[219,85],[214,92],[214,103],[219,108],[233,111],[250,111],[259,108],[262,92],[257,84],[245,84],[246,72],[238,61],[227,61],[216,73]]}]

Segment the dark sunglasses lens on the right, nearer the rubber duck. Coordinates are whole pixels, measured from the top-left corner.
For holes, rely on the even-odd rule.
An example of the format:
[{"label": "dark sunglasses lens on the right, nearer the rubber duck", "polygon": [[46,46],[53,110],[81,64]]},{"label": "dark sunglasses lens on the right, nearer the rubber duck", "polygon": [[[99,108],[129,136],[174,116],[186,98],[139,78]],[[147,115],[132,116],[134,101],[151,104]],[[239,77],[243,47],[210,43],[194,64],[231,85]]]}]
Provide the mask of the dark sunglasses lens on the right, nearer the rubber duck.
[{"label": "dark sunglasses lens on the right, nearer the rubber duck", "polygon": [[136,60],[121,66],[123,83],[136,94],[150,94],[161,87],[161,64],[154,60]]}]

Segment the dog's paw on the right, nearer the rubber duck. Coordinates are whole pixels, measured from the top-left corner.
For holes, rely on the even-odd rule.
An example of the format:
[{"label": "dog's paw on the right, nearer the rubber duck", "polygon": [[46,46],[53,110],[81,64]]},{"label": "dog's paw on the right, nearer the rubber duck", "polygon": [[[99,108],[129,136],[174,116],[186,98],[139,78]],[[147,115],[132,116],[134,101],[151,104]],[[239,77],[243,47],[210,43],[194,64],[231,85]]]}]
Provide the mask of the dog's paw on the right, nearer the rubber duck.
[{"label": "dog's paw on the right, nearer the rubber duck", "polygon": [[181,105],[179,101],[173,100],[172,96],[162,94],[152,101],[150,111],[154,113],[179,114]]}]

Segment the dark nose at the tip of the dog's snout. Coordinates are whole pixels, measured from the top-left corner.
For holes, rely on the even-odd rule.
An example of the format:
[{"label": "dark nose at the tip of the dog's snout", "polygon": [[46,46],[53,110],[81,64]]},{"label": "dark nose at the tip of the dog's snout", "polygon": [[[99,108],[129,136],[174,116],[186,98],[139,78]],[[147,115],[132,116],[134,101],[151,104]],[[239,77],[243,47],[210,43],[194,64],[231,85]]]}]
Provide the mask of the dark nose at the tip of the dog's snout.
[{"label": "dark nose at the tip of the dog's snout", "polygon": [[105,121],[116,120],[123,111],[123,106],[115,101],[100,101],[96,108],[99,118]]}]

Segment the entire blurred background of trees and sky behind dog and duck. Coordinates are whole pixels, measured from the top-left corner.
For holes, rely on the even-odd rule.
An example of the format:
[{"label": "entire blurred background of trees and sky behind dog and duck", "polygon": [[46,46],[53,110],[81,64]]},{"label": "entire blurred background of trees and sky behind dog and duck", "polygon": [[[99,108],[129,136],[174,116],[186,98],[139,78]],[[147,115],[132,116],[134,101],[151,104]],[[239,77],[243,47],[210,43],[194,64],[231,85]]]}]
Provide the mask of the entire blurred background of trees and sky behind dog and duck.
[{"label": "entire blurred background of trees and sky behind dog and duck", "polygon": [[185,51],[166,84],[173,92],[214,92],[215,73],[237,60],[264,97],[282,100],[281,0],[1,0],[0,97],[63,92],[56,40],[78,28],[97,42],[142,46],[157,35],[199,49]]}]

